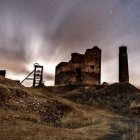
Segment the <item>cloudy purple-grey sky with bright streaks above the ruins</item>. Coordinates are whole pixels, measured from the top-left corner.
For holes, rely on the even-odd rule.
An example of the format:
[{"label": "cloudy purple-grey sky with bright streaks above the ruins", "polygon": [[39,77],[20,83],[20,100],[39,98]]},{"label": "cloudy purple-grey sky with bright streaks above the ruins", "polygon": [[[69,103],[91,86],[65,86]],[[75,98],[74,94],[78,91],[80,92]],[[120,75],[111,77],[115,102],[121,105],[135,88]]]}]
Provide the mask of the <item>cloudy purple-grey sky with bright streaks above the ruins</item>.
[{"label": "cloudy purple-grey sky with bright streaks above the ruins", "polygon": [[23,80],[34,63],[46,85],[71,53],[102,49],[101,81],[118,82],[120,46],[128,47],[130,82],[140,86],[140,0],[0,0],[0,69]]}]

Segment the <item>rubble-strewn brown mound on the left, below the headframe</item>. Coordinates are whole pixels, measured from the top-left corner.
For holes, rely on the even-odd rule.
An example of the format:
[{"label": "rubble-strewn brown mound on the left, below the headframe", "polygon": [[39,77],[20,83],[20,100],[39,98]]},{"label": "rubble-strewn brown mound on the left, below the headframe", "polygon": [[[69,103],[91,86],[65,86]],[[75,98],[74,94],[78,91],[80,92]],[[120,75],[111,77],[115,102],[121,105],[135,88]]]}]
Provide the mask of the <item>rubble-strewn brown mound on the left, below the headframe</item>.
[{"label": "rubble-strewn brown mound on the left, below the headframe", "polygon": [[4,82],[0,81],[1,121],[22,119],[56,123],[71,110],[69,106],[58,102],[53,97],[37,96],[22,85],[12,83],[12,80],[2,80]]}]

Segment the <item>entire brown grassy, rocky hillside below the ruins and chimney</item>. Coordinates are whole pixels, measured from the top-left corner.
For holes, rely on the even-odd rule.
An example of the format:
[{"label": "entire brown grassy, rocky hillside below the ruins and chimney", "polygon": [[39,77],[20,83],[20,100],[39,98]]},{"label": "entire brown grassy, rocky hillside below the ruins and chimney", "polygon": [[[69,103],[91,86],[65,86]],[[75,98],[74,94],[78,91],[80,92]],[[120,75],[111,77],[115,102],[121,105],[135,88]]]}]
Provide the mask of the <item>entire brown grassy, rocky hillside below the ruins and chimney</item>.
[{"label": "entire brown grassy, rocky hillside below the ruins and chimney", "polygon": [[131,84],[25,88],[0,78],[0,140],[139,140]]}]

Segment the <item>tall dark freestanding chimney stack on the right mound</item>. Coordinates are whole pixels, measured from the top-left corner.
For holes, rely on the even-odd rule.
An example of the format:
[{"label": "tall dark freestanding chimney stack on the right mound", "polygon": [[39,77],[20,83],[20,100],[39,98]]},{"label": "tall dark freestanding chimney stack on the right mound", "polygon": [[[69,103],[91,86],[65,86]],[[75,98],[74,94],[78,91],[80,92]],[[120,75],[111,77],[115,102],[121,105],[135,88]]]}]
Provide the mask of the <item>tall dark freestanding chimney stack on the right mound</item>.
[{"label": "tall dark freestanding chimney stack on the right mound", "polygon": [[127,47],[119,47],[119,82],[129,83]]}]

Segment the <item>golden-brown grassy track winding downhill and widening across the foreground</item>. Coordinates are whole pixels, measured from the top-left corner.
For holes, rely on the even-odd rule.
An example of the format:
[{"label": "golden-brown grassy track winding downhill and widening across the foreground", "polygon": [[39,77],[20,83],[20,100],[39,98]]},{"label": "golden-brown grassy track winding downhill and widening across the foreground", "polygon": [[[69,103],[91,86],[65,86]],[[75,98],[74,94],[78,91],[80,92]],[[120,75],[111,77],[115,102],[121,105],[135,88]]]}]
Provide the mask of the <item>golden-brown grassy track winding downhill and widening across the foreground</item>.
[{"label": "golden-brown grassy track winding downhill and widening across the foreground", "polygon": [[140,120],[95,106],[81,105],[54,93],[35,91],[34,97],[72,108],[54,127],[20,119],[0,120],[0,140],[140,140]]}]

